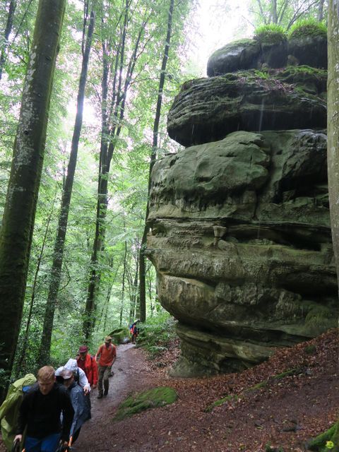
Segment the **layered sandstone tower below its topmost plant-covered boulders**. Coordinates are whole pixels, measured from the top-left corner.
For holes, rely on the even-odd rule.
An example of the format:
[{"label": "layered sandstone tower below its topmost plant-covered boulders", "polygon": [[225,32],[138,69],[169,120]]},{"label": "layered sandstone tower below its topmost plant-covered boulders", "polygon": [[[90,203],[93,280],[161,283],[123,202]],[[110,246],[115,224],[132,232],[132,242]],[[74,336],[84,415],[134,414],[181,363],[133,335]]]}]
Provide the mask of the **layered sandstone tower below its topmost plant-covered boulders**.
[{"label": "layered sandstone tower below its topmost plant-covered boulders", "polygon": [[251,70],[174,100],[189,147],[153,168],[147,249],[179,321],[174,374],[241,370],[336,326],[325,89],[324,71]]}]

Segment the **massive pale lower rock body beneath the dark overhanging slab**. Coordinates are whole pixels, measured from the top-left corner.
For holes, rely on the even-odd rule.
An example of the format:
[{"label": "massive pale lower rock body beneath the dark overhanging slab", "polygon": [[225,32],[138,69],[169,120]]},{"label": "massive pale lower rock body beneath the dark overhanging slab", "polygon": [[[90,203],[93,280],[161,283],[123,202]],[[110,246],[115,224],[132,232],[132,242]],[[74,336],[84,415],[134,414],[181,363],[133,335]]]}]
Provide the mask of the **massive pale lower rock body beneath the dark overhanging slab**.
[{"label": "massive pale lower rock body beneath the dark overhanging slab", "polygon": [[179,320],[174,374],[244,369],[335,326],[326,135],[230,133],[159,160],[147,254]]}]

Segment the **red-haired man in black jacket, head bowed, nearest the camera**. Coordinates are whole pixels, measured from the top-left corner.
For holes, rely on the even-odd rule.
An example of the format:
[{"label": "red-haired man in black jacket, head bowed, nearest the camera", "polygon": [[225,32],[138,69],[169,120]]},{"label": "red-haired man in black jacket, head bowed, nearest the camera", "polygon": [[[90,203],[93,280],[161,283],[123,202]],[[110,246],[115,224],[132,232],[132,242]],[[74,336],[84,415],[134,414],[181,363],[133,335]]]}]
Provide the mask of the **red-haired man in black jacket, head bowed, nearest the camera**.
[{"label": "red-haired man in black jacket, head bowed, nearest the camera", "polygon": [[[61,427],[60,416],[63,415]],[[25,452],[55,452],[59,442],[69,442],[74,410],[69,393],[56,382],[52,366],[37,372],[37,383],[20,405],[14,441],[22,441],[27,426]]]}]

